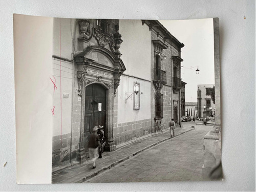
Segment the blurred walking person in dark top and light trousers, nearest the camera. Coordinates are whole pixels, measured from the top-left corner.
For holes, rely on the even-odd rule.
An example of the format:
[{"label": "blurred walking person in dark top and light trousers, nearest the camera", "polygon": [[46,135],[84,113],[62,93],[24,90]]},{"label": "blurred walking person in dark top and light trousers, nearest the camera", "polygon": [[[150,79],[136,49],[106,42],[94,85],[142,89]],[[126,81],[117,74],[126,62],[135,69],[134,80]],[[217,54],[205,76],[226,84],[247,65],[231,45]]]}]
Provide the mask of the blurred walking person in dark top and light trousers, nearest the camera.
[{"label": "blurred walking person in dark top and light trousers, nearest the camera", "polygon": [[89,156],[91,161],[93,162],[93,168],[96,168],[95,161],[99,157],[99,147],[100,147],[100,138],[97,134],[98,127],[93,127],[93,133],[89,135],[89,142],[88,142],[88,148],[89,148]]}]

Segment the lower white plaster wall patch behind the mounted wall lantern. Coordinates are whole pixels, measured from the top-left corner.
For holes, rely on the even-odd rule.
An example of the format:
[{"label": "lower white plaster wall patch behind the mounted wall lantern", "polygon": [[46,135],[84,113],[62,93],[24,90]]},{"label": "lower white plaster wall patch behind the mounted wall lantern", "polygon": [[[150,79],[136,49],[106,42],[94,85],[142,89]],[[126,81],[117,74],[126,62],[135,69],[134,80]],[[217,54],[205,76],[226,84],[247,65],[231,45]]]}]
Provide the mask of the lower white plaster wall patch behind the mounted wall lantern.
[{"label": "lower white plaster wall patch behind the mounted wall lantern", "polygon": [[[134,82],[140,83],[140,109],[133,110],[134,96],[132,95],[129,99],[125,101],[133,93]],[[121,76],[120,85],[118,87],[118,111],[117,111],[117,122],[125,123],[132,121],[139,121],[143,119],[151,118],[151,83],[148,81],[143,81],[136,78],[131,78],[127,76]],[[127,94],[126,94],[127,93]]]}]

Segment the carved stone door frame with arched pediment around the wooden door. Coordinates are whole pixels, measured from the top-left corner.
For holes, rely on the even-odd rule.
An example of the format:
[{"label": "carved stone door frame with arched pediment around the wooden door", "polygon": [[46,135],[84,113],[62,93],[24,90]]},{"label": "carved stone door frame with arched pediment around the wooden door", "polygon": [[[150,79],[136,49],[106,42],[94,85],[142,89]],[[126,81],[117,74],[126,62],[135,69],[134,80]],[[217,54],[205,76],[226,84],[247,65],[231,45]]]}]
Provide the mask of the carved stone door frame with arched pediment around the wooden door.
[{"label": "carved stone door frame with arched pediment around the wooden door", "polygon": [[[100,63],[94,62],[94,60],[86,58],[86,56],[93,52],[100,52],[102,55],[108,57],[113,64],[113,68],[104,66]],[[78,159],[80,162],[86,160],[84,149],[84,101],[86,99],[86,87],[92,83],[99,83],[106,88],[106,145],[105,151],[116,150],[116,145],[113,138],[113,125],[114,125],[114,97],[116,89],[119,86],[120,76],[125,71],[120,54],[113,54],[111,51],[102,48],[100,46],[88,47],[86,50],[74,56],[75,71],[77,71],[78,78],[78,95],[81,97],[81,123],[80,123],[80,142]]]}]

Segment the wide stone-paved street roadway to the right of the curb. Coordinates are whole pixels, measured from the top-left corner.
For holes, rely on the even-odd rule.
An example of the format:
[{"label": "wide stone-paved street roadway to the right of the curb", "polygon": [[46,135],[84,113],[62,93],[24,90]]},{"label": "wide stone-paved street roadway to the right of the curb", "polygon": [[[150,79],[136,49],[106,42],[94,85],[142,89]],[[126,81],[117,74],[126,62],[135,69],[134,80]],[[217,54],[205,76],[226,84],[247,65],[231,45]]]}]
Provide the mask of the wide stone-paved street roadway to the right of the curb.
[{"label": "wide stone-paved street roadway to the right of the curb", "polygon": [[166,140],[84,183],[201,181],[203,137],[212,126],[183,122],[185,127],[191,125],[196,129]]}]

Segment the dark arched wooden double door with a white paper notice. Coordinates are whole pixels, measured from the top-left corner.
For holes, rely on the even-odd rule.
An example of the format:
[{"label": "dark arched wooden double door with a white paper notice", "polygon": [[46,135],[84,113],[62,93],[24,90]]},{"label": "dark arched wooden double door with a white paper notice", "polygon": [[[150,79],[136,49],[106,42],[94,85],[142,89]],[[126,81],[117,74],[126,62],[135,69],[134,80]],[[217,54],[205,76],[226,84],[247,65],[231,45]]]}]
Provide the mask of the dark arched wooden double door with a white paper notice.
[{"label": "dark arched wooden double door with a white paper notice", "polygon": [[[84,107],[84,138],[88,138],[94,126],[103,125],[105,132],[106,122],[106,89],[98,83],[86,87]],[[105,137],[105,135],[104,135]],[[106,137],[105,137],[106,138]],[[84,143],[86,144],[86,143]]]}]

